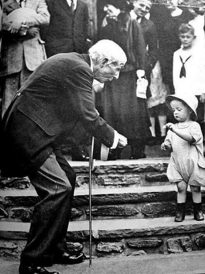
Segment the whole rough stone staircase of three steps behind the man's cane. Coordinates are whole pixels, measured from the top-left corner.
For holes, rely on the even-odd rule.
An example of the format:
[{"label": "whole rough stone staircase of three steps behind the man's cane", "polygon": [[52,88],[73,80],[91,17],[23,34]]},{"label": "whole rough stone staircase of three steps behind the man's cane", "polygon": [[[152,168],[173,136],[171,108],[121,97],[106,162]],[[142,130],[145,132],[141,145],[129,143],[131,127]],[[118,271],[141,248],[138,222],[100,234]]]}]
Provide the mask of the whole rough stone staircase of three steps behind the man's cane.
[{"label": "whole rough stone staircase of three steps behind the man's cane", "polygon": [[[96,161],[92,173],[93,256],[131,256],[189,252],[205,248],[205,221],[193,219],[191,193],[187,216],[174,222],[177,190],[166,177],[169,158]],[[88,163],[70,162],[77,174],[67,232],[70,252],[89,254]],[[24,178],[2,180],[0,255],[19,257],[38,197]],[[205,209],[205,191],[202,190]],[[205,212],[205,210],[204,210]]]}]

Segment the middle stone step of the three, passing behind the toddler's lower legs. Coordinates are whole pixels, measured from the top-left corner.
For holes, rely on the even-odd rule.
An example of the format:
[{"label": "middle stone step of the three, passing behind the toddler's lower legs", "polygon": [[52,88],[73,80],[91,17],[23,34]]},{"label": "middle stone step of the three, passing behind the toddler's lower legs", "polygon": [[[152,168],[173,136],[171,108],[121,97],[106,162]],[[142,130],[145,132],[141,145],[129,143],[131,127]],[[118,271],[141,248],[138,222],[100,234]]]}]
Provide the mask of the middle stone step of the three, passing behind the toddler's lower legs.
[{"label": "middle stone step of the three, passing behind the toddler's lower legs", "polygon": [[[101,188],[92,190],[93,219],[136,219],[175,215],[177,191],[175,185]],[[40,201],[34,189],[4,190],[0,196],[1,204],[8,217],[1,221],[23,221],[31,219],[33,206]],[[202,191],[205,209],[205,192]],[[192,213],[191,193],[187,195],[187,214]],[[71,221],[89,218],[88,190],[76,188]]]}]

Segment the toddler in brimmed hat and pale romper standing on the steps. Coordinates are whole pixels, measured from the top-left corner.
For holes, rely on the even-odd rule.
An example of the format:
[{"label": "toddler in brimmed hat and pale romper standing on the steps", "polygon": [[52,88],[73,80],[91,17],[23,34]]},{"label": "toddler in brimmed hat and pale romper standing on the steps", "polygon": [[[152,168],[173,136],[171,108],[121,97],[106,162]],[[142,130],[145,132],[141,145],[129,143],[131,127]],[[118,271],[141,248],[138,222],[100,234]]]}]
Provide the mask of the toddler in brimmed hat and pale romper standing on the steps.
[{"label": "toddler in brimmed hat and pale romper standing on the steps", "polygon": [[175,222],[185,218],[187,186],[192,191],[194,219],[204,220],[201,206],[201,186],[205,186],[205,160],[203,156],[203,136],[196,122],[198,100],[194,95],[175,94],[166,97],[166,104],[177,120],[168,123],[168,133],[162,150],[171,150],[167,177],[177,184],[177,210]]}]

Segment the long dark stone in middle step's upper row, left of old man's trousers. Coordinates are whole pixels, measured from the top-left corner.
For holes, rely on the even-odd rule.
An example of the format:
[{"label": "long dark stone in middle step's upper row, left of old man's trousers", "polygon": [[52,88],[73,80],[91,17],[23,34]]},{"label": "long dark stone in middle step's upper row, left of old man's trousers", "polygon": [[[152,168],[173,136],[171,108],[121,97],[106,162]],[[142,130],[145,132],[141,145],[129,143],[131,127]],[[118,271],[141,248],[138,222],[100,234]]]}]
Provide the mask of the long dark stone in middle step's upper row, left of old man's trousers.
[{"label": "long dark stone in middle step's upper row, left of old man's trousers", "polygon": [[37,202],[40,202],[38,196],[7,196],[5,197],[3,204],[5,204],[7,207],[33,207]]}]

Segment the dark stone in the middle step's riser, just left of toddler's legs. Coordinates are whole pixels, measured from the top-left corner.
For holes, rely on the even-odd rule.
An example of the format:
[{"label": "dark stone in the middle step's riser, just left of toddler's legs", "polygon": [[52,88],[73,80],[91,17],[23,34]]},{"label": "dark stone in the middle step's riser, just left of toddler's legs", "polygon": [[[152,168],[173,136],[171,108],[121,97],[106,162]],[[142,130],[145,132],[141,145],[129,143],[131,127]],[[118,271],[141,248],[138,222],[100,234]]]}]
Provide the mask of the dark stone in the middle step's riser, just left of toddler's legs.
[{"label": "dark stone in the middle step's riser, just left of toddler's legs", "polygon": [[175,214],[175,204],[172,202],[147,203],[143,205],[142,213],[147,217],[173,216]]}]

